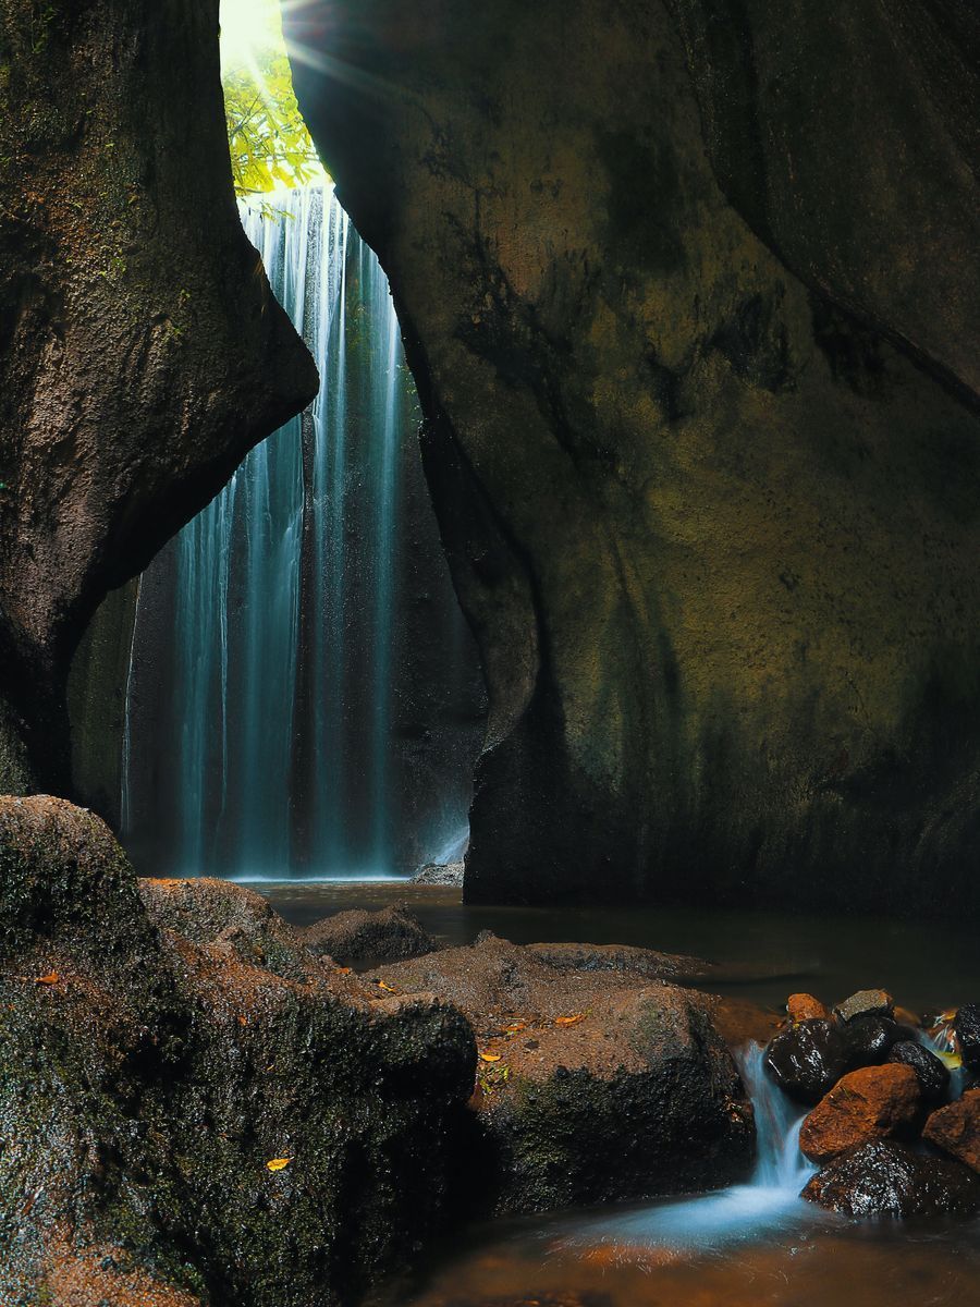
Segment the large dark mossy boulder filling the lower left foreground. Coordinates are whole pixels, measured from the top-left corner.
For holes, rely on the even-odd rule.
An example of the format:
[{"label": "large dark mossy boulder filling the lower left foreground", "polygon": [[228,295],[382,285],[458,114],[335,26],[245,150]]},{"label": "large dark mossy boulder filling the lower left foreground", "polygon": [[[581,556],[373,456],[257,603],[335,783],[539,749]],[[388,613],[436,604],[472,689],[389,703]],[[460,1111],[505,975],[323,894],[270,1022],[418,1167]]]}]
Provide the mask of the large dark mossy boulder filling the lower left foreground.
[{"label": "large dark mossy boulder filling the lower left foreground", "polygon": [[446,1223],[466,1022],[0,800],[0,1299],[335,1307]]}]

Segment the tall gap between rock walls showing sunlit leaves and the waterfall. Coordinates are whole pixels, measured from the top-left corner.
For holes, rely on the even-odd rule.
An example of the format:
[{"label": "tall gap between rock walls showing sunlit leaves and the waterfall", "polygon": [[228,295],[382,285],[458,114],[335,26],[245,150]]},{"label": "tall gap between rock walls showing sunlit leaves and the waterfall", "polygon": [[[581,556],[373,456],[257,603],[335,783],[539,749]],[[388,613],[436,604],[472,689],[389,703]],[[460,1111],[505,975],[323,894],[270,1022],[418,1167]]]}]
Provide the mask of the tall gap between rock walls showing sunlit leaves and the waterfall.
[{"label": "tall gap between rock walls showing sunlit leaves and the waterfall", "polygon": [[129,596],[118,826],[153,874],[401,877],[465,850],[476,647],[388,281],[297,106],[278,0],[222,0],[221,68],[242,223],[320,389]]}]

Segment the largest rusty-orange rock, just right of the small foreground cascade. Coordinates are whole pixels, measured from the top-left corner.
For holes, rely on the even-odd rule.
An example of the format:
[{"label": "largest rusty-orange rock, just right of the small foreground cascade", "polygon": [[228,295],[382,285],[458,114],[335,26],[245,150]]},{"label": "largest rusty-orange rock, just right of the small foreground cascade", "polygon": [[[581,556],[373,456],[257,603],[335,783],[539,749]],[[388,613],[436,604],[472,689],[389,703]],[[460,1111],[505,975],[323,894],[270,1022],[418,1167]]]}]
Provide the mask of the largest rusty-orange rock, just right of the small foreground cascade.
[{"label": "largest rusty-orange rock, just right of the small foreground cascade", "polygon": [[864,1067],[844,1076],[800,1127],[800,1150],[826,1162],[873,1138],[911,1131],[923,1091],[911,1067]]}]

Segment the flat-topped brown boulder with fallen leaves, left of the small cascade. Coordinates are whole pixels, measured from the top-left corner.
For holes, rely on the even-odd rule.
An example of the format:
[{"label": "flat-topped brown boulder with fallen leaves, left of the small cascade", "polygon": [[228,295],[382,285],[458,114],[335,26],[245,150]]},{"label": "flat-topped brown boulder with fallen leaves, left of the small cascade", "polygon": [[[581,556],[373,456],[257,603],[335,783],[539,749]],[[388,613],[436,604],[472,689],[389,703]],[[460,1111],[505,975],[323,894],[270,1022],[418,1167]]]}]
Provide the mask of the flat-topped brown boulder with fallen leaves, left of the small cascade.
[{"label": "flat-topped brown boulder with fallen leaves, left of the small cascade", "polygon": [[487,933],[380,970],[383,984],[444,999],[473,1026],[478,1206],[540,1212],[747,1174],[751,1108],[711,1000],[610,968],[612,955]]}]

